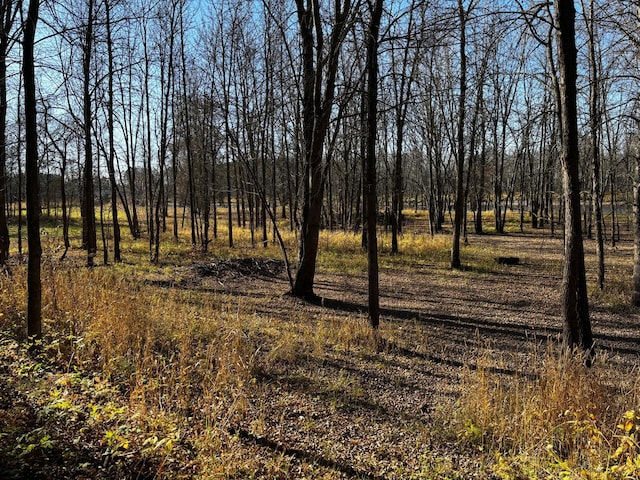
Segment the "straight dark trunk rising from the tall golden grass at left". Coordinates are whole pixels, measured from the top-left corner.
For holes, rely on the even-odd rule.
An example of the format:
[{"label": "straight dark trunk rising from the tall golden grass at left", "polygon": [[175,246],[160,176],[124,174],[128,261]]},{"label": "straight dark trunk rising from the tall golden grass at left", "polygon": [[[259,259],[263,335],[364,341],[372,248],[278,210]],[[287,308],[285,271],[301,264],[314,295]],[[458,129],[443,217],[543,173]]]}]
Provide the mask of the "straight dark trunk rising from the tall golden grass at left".
[{"label": "straight dark trunk rising from the tall golden grass at left", "polygon": [[[24,71],[24,118],[27,175],[27,234],[29,260],[27,267],[27,335],[42,336],[42,284],[40,281],[40,185],[38,171],[38,124],[36,108],[33,44],[38,22],[39,0],[29,1],[22,44]],[[3,207],[4,208],[4,207]]]}]

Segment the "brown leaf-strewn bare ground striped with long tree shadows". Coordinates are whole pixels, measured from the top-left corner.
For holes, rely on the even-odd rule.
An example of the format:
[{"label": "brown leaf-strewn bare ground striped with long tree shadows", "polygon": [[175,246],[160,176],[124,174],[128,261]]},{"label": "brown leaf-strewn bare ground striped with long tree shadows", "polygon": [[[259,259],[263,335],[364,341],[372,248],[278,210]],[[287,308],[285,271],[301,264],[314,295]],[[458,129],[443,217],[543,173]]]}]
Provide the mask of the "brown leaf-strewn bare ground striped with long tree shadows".
[{"label": "brown leaf-strewn bare ground striped with long tree shadows", "polygon": [[[517,265],[491,271],[449,271],[418,263],[380,274],[381,352],[348,348],[321,355],[298,352],[291,361],[260,372],[246,414],[233,426],[265,462],[280,455],[312,463],[340,478],[488,478],[482,456],[461,450],[446,430],[464,372],[481,352],[491,352],[496,372],[526,376],[531,358],[562,333],[560,287],[562,242],[529,235],[474,236],[470,242]],[[630,242],[607,248],[612,282],[630,278]],[[587,242],[590,292],[595,290],[594,246]],[[464,263],[464,250],[463,250]],[[202,274],[202,272],[200,272]],[[283,295],[288,283],[273,275],[204,278],[214,290],[258,299],[256,314],[278,318],[292,329],[331,315],[366,322],[366,274],[319,272],[322,305]],[[273,272],[271,272],[273,273]],[[623,280],[619,280],[622,278]],[[627,282],[626,285],[629,285]],[[600,354],[622,369],[640,360],[640,316],[624,304],[625,294],[607,287],[591,297],[591,318]],[[619,304],[611,300],[619,294]],[[314,320],[316,319],[316,320]],[[330,478],[335,478],[334,476]]]}]

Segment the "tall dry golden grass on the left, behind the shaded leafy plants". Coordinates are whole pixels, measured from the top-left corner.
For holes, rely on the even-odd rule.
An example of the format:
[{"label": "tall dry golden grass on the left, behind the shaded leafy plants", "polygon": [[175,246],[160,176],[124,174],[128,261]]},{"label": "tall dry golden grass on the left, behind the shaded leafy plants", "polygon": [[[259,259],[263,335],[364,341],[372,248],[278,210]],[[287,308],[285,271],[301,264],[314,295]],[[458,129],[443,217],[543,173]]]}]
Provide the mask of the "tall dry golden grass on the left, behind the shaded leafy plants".
[{"label": "tall dry golden grass on the left, behind the shaded leafy plants", "polygon": [[[16,267],[11,277],[0,277],[3,338],[22,330],[24,275]],[[79,430],[68,429],[77,417],[91,419],[87,428],[103,439],[111,474],[137,455],[160,477],[167,460],[184,460],[183,436],[194,442],[216,435],[225,444],[246,403],[256,355],[247,333],[253,320],[241,305],[199,292],[158,290],[117,269],[49,269],[43,287],[47,334],[43,357],[33,363],[49,364],[59,380],[42,382],[38,367],[25,381],[34,402],[56,415],[43,417],[47,438],[60,445],[81,441],[87,435],[81,423]],[[196,415],[197,422],[189,421]],[[29,441],[27,456],[41,448]],[[184,465],[200,470],[210,461],[201,457],[206,449],[196,447],[195,459]],[[174,465],[172,476],[190,477],[183,468]]]}]

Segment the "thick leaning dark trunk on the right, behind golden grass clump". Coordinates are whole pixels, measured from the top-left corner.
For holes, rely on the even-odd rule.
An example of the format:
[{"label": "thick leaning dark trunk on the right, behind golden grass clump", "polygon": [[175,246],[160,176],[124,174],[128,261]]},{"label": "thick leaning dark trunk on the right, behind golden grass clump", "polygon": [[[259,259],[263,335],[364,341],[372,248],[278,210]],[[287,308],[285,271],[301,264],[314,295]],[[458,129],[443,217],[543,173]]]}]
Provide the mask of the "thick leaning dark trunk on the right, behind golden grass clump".
[{"label": "thick leaning dark trunk on the right, behind golden grass clump", "polygon": [[565,198],[565,258],[562,277],[564,341],[568,348],[590,354],[593,348],[580,221],[578,119],[576,106],[577,50],[575,7],[571,0],[555,0],[562,124],[562,183]]}]

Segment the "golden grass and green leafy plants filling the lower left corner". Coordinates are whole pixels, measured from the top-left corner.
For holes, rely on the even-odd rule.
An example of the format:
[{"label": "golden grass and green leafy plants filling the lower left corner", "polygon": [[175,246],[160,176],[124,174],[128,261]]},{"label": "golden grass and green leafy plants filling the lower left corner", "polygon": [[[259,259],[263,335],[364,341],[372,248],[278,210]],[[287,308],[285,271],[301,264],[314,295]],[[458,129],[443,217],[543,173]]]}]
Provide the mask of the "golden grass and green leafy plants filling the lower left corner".
[{"label": "golden grass and green leafy plants filling the lower left corner", "polygon": [[[10,281],[22,285],[23,274],[15,268]],[[11,333],[23,321],[9,303],[21,289],[7,280],[3,373],[8,392],[29,392],[24,418],[0,420],[10,475],[191,478],[203,462],[199,439],[231,441],[255,354],[237,306],[154,292],[109,269],[52,270],[47,334],[28,345]]]}]

